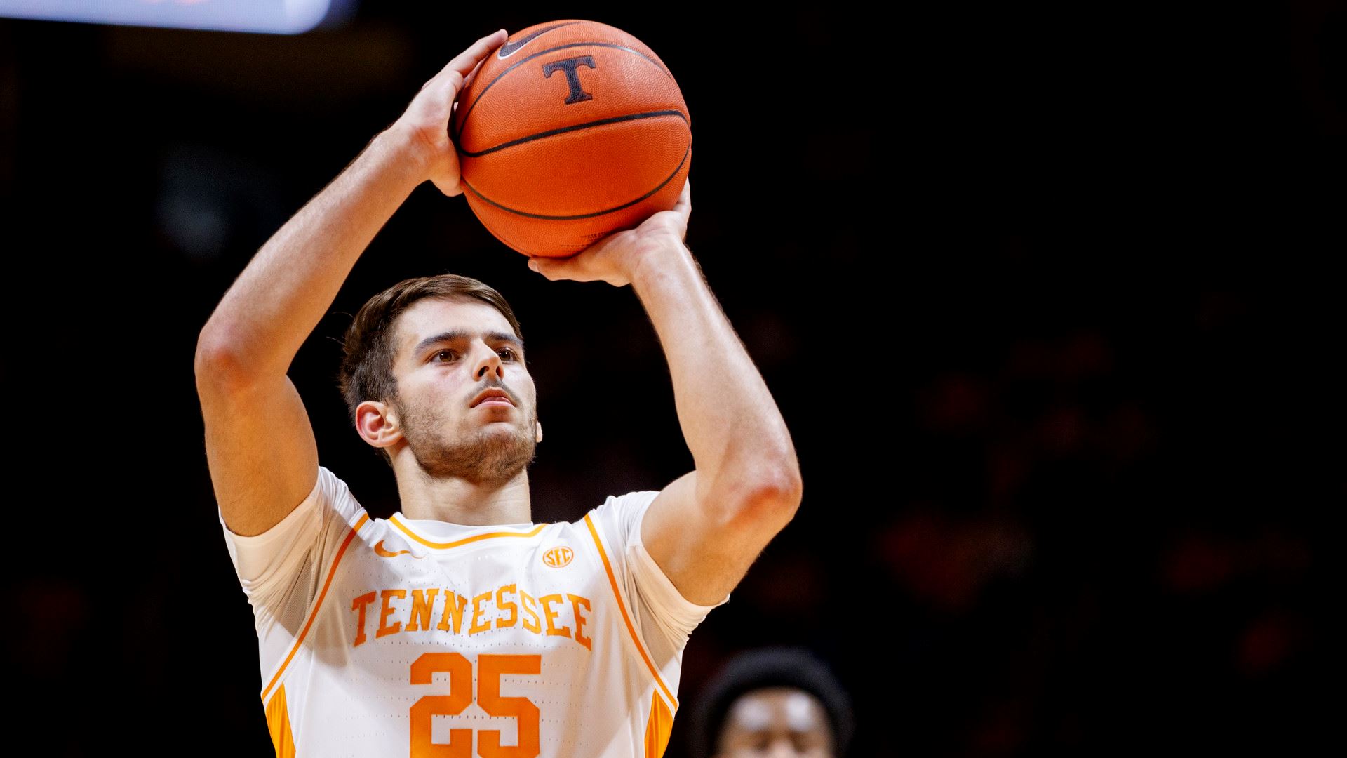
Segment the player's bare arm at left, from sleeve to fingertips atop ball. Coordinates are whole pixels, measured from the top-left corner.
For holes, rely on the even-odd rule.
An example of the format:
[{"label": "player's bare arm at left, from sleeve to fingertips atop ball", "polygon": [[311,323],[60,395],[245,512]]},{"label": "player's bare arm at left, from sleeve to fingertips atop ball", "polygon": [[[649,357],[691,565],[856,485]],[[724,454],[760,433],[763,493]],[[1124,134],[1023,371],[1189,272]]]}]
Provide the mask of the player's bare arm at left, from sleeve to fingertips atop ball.
[{"label": "player's bare arm at left, from sleeve to fingertips atop ball", "polygon": [[449,119],[475,66],[504,30],[457,55],[407,111],[257,251],[197,341],[206,459],[225,525],[253,535],[313,490],[318,448],[286,376],[356,259],[411,192],[430,179],[461,194]]}]

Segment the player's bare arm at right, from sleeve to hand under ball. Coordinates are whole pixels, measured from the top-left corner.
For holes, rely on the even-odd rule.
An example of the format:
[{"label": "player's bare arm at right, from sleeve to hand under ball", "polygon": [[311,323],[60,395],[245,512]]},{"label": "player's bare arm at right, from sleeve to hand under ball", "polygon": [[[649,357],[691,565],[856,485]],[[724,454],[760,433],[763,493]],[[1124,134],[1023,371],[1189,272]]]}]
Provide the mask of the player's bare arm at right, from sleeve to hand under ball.
[{"label": "player's bare arm at right, from sleeve to hand under ball", "polygon": [[651,503],[641,540],[683,596],[725,599],[799,508],[791,433],[752,357],[683,244],[691,186],[672,210],[564,259],[532,258],[550,279],[632,285],[655,324],[695,469]]}]

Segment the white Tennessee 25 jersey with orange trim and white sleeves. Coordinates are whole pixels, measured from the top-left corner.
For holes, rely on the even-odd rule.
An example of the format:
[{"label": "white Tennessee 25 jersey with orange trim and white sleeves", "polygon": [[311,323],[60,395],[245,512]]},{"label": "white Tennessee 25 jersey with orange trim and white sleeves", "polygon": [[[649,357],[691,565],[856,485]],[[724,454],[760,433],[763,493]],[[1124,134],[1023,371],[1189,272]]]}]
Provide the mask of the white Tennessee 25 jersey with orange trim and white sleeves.
[{"label": "white Tennessee 25 jersey with orange trim and white sleeves", "polygon": [[687,602],[645,552],[656,495],[574,523],[377,519],[319,467],[263,534],[221,514],[276,754],[661,755],[688,634],[729,595]]}]

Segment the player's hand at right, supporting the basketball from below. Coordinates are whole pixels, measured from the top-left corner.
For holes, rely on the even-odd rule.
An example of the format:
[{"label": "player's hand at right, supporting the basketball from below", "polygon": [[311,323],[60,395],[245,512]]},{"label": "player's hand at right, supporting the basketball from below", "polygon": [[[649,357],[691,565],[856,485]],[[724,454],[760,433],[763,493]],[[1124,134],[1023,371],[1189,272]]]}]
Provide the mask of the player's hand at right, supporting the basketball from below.
[{"label": "player's hand at right, supporting the basketball from below", "polygon": [[655,213],[634,229],[613,232],[590,247],[566,258],[531,255],[528,267],[552,279],[594,282],[602,279],[614,287],[632,283],[636,268],[660,248],[682,247],[687,236],[687,218],[692,213],[692,185],[683,181],[683,193],[672,210]]}]

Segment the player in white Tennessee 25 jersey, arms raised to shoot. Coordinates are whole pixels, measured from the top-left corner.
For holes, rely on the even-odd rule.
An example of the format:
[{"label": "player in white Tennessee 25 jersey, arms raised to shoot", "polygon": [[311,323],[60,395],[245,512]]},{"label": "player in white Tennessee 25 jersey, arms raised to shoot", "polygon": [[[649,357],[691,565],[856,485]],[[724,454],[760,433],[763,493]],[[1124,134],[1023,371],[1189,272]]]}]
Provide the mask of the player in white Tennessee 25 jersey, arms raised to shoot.
[{"label": "player in white Tennessee 25 jersey, arms raised to shoot", "polygon": [[[462,194],[451,104],[505,39],[478,39],[426,82],[257,251],[198,340],[206,459],[277,755],[660,755],[688,634],[800,503],[785,424],[683,244],[686,183],[638,228],[532,263],[632,286],[694,471],[533,523],[543,426],[520,325],[496,290],[447,274],[374,295],[346,333],[341,387],[400,510],[370,518],[319,465],[286,371],[412,189]],[[572,402],[603,402],[594,368]]]}]

